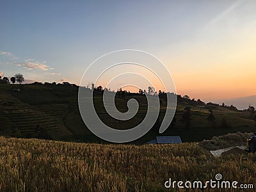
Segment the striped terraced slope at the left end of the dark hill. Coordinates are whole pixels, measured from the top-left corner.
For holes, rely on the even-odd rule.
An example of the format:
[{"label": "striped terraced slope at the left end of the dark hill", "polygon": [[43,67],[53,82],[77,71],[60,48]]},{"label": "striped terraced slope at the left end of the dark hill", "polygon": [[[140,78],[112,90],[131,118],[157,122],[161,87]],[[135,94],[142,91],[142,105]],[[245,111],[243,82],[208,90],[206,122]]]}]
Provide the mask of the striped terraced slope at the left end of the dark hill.
[{"label": "striped terraced slope at the left end of the dark hill", "polygon": [[0,93],[0,111],[12,125],[10,130],[4,132],[14,136],[58,138],[70,134],[61,120],[9,93]]}]

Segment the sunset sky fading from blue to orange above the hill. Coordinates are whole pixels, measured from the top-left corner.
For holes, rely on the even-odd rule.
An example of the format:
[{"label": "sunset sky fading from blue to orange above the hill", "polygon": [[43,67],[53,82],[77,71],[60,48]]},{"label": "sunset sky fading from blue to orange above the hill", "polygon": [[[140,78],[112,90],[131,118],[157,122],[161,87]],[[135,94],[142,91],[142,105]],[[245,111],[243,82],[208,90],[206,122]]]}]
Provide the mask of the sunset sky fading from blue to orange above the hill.
[{"label": "sunset sky fading from blue to orange above the hill", "polygon": [[100,56],[138,49],[162,61],[181,95],[256,95],[255,10],[253,0],[0,1],[0,73],[79,84]]}]

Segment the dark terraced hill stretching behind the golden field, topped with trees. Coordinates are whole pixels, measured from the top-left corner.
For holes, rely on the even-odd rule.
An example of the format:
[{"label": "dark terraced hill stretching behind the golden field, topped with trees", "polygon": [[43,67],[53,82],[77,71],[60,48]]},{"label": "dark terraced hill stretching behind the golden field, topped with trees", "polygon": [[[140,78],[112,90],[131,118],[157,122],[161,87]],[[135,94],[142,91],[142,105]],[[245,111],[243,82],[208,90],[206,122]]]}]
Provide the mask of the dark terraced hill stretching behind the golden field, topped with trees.
[{"label": "dark terraced hill stretching behind the golden field, topped with trees", "polygon": [[[19,88],[20,92],[13,92],[13,88]],[[0,84],[1,135],[106,143],[84,125],[77,104],[77,91],[76,86]],[[140,94],[116,97],[116,108],[127,111],[127,100],[131,98],[138,100],[140,108],[134,118],[125,122],[119,122],[106,113],[102,92],[95,93],[95,109],[104,123],[115,129],[129,129],[140,124],[147,113],[147,100]],[[202,141],[229,132],[255,132],[255,122],[248,118],[250,115],[246,111],[204,104],[179,96],[175,120],[163,134],[159,134],[159,125],[166,110],[164,95],[160,99],[161,109],[156,124],[145,136],[132,143],[143,144],[156,136],[179,135],[182,141]],[[184,121],[184,113],[188,108],[189,125]],[[210,109],[214,121],[208,120]]]}]

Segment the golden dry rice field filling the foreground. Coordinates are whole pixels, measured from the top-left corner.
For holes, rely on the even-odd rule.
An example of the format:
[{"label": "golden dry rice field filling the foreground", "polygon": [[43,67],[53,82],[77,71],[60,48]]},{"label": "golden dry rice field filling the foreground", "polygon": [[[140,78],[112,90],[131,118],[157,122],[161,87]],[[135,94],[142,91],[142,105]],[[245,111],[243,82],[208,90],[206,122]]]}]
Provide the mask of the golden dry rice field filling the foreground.
[{"label": "golden dry rice field filling the foreground", "polygon": [[217,173],[225,180],[256,184],[255,156],[232,154],[214,158],[197,143],[102,145],[0,137],[0,188],[1,191],[184,191],[166,189],[164,182],[169,178],[205,181],[214,179]]}]

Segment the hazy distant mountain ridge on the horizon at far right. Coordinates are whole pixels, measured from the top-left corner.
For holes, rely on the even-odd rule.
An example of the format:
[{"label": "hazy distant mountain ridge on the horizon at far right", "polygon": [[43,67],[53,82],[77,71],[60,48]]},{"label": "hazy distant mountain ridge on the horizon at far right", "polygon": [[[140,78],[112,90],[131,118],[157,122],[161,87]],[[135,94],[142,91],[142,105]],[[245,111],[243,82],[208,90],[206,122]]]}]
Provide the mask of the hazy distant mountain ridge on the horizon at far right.
[{"label": "hazy distant mountain ridge on the horizon at far right", "polygon": [[237,109],[248,109],[248,106],[254,106],[256,108],[256,95],[252,95],[249,97],[239,97],[233,99],[220,99],[220,100],[213,100],[213,102],[222,104],[223,102],[225,105],[236,106]]}]

